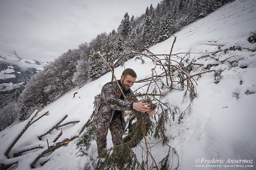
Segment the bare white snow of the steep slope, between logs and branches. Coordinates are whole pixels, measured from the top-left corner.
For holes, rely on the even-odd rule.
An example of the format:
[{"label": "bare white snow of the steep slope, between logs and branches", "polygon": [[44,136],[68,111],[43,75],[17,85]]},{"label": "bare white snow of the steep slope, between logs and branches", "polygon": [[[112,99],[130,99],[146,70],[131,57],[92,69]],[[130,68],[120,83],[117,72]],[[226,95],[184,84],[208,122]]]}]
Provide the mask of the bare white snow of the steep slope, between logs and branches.
[{"label": "bare white snow of the steep slope, between logs and branches", "polygon": [[[206,52],[216,49],[215,46],[205,45],[222,44],[226,47],[243,45],[247,48],[255,48],[247,38],[251,32],[256,32],[256,1],[236,0],[226,4],[207,17],[183,28],[177,32],[173,54],[179,52]],[[154,54],[169,54],[174,38],[150,48]],[[203,74],[198,79],[196,90],[197,97],[194,99],[191,113],[186,115],[181,124],[171,124],[168,129],[168,137],[172,140],[168,143],[174,147],[179,155],[179,168],[182,170],[197,169],[255,169],[256,166],[256,53],[251,51],[234,51],[230,56],[237,55],[241,60],[237,61],[236,67],[230,67],[223,63],[213,70],[222,70],[222,79],[214,83],[214,72]],[[192,56],[193,57],[193,56]],[[151,75],[153,63],[146,59],[145,64],[131,59],[125,63],[125,68],[132,68],[137,73],[137,80]],[[201,61],[205,64],[209,61]],[[242,66],[245,66],[242,67]],[[120,78],[124,68],[115,69],[116,77]],[[161,71],[160,68],[156,70]],[[96,81],[85,84],[81,88],[75,88],[54,103],[50,104],[39,114],[49,111],[50,115],[44,116],[34,123],[24,133],[22,138],[10,151],[10,155],[21,150],[22,147],[41,143],[47,145],[58,134],[58,130],[44,136],[39,141],[37,136],[43,134],[54,126],[65,115],[68,115],[63,123],[79,120],[75,125],[63,127],[63,135],[58,141],[78,134],[82,125],[88,120],[93,110],[94,96],[99,94],[101,87],[111,80],[108,73]],[[134,84],[132,89],[138,89],[140,84]],[[73,98],[74,92],[78,92]],[[172,91],[164,100],[175,103],[179,107],[186,107],[182,103],[184,91]],[[7,128],[0,132],[0,163],[14,161],[17,158],[7,159],[4,156],[6,148],[26,121]],[[156,139],[151,139],[157,142]],[[78,156],[76,148],[77,139],[69,142],[67,146],[56,149],[50,160],[44,165],[35,165],[35,169],[85,169],[90,167],[88,156]],[[111,147],[111,136],[108,134],[108,147]],[[160,162],[167,154],[161,143],[152,147],[151,153],[156,162]],[[138,159],[141,159],[141,148],[134,149]],[[29,169],[29,164],[35,158],[40,149],[23,154],[18,164],[13,165],[11,170]],[[93,141],[87,151],[93,159],[97,156],[96,142]],[[173,169],[177,166],[177,157],[174,157]],[[234,163],[236,160],[236,163]],[[237,160],[242,160],[238,161]],[[238,167],[224,167],[224,166]],[[245,167],[245,166],[253,167]],[[196,167],[201,166],[201,167]],[[203,167],[204,166],[204,167]],[[208,166],[208,167],[206,167]],[[212,167],[215,166],[215,167]],[[222,166],[222,167],[221,167]],[[240,167],[239,167],[240,166]],[[160,165],[158,165],[160,169]]]}]

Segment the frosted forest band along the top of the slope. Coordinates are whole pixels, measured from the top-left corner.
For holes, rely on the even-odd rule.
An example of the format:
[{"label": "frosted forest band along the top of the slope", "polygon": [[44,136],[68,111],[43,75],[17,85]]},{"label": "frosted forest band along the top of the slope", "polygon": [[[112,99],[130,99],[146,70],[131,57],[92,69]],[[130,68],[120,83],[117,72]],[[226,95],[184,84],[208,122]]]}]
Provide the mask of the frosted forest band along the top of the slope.
[{"label": "frosted forest band along the top of the slope", "polygon": [[[91,42],[69,49],[33,76],[28,83],[25,82],[23,89],[16,90],[12,95],[14,101],[1,101],[0,130],[17,120],[17,112],[19,120],[24,120],[35,109],[41,109],[55,101],[71,88],[109,72],[107,65],[94,57],[96,52],[107,53],[105,59],[109,63],[115,63],[111,66],[115,68],[133,58],[135,54],[131,52],[145,51],[230,1],[232,0],[164,0],[156,8],[152,4],[148,6],[138,18],[125,13],[116,30],[100,33]],[[117,60],[119,61],[115,62]]]}]

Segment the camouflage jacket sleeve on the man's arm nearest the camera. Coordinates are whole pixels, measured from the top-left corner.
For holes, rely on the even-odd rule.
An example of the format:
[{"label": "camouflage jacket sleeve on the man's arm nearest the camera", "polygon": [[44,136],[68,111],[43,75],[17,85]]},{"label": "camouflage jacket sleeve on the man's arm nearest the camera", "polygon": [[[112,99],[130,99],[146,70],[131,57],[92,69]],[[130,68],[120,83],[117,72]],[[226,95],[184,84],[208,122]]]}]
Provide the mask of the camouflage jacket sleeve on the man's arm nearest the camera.
[{"label": "camouflage jacket sleeve on the man's arm nearest the camera", "polygon": [[119,111],[131,110],[131,104],[133,101],[125,101],[116,98],[114,88],[112,85],[105,85],[101,90],[101,96],[104,102],[109,106],[110,109]]}]

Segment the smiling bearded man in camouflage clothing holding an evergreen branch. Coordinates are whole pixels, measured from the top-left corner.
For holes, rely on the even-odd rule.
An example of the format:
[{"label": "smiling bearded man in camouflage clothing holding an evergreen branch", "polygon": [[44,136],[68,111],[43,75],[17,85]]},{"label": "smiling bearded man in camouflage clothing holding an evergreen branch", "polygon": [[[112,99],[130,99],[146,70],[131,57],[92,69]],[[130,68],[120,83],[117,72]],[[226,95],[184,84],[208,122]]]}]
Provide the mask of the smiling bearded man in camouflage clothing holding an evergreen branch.
[{"label": "smiling bearded man in camouflage clothing holding an evergreen branch", "polygon": [[128,101],[124,100],[124,96],[118,87],[116,81],[103,85],[100,97],[96,106],[93,118],[94,132],[98,147],[98,155],[107,150],[107,132],[110,130],[112,142],[114,146],[123,147],[123,132],[125,128],[125,120],[122,112],[135,109],[141,112],[147,112],[149,116],[155,113],[150,110],[150,104],[138,102],[137,97],[130,87],[137,78],[136,73],[132,69],[125,69],[118,80],[118,84],[122,87],[122,91]]}]

